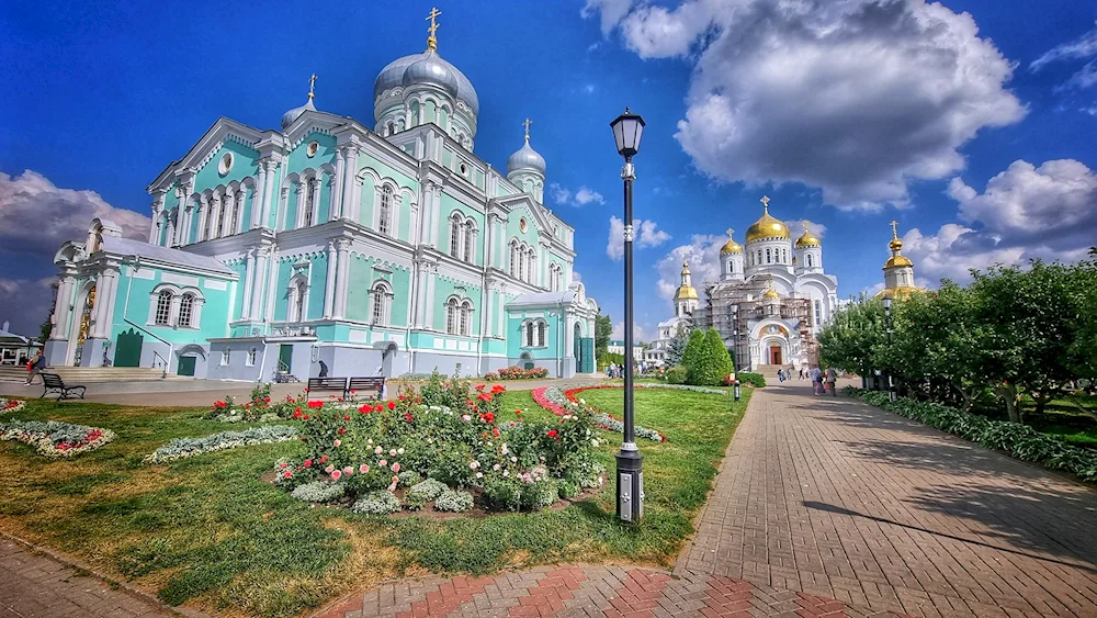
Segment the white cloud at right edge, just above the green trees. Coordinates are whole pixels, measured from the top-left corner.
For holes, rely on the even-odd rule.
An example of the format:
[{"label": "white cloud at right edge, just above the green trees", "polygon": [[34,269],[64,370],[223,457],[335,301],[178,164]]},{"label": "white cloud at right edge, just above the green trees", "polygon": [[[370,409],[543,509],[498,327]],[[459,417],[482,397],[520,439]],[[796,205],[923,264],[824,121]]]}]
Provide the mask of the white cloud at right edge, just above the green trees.
[{"label": "white cloud at right edge, just above the green trees", "polygon": [[936,234],[909,231],[904,254],[920,276],[970,279],[971,268],[1024,263],[1032,258],[1075,261],[1086,256],[1097,228],[1097,172],[1074,159],[1037,167],[1014,161],[981,193],[960,178],[948,194],[961,223]]}]

